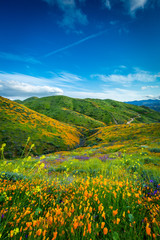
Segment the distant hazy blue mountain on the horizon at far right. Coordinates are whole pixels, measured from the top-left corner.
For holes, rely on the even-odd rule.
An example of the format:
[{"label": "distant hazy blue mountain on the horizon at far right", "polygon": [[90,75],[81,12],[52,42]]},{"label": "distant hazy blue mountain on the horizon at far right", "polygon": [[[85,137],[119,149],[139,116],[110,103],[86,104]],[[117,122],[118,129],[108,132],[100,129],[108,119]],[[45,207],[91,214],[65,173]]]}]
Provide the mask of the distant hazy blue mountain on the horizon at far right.
[{"label": "distant hazy blue mountain on the horizon at far right", "polygon": [[160,112],[160,100],[158,99],[157,100],[148,99],[148,100],[126,102],[126,103],[133,104],[136,106],[146,106],[157,112]]}]

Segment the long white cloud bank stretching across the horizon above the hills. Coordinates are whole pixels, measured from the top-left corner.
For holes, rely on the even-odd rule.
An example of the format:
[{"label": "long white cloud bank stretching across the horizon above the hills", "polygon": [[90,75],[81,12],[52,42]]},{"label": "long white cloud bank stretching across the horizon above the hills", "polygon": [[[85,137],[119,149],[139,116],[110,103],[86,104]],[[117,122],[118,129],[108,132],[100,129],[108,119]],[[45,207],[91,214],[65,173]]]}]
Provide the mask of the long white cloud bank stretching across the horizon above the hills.
[{"label": "long white cloud bank stretching across the horizon above the hills", "polygon": [[[12,100],[23,100],[32,96],[66,95],[76,98],[117,101],[142,100],[151,95],[152,98],[159,96],[160,74],[151,74],[142,70],[128,75],[91,75],[94,78],[94,84],[93,86],[91,84],[90,90],[85,87],[87,81],[81,76],[68,72],[49,72],[49,74],[49,78],[43,78],[20,73],[0,72],[0,95]],[[139,81],[139,83],[136,83],[137,87],[132,89],[135,81]],[[95,84],[97,84],[96,88]]]}]

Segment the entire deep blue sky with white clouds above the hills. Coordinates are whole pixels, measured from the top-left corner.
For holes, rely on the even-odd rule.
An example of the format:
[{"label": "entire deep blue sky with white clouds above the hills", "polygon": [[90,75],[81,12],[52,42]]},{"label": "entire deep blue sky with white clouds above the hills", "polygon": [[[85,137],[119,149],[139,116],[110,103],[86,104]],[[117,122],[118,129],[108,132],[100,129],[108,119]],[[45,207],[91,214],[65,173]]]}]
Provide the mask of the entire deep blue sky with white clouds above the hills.
[{"label": "entire deep blue sky with white clouds above the hills", "polygon": [[0,95],[160,99],[160,0],[0,0]]}]

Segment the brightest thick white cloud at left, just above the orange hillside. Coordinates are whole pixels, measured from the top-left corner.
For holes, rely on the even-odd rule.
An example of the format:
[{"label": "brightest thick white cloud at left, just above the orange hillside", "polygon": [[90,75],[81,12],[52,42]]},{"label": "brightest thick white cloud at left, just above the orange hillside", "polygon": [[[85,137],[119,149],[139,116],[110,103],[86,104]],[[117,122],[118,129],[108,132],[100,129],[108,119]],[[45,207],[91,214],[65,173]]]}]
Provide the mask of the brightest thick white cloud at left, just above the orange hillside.
[{"label": "brightest thick white cloud at left, just above the orange hillside", "polygon": [[68,72],[48,72],[49,78],[0,72],[0,95],[12,99],[62,95],[63,89],[80,89],[82,77]]}]

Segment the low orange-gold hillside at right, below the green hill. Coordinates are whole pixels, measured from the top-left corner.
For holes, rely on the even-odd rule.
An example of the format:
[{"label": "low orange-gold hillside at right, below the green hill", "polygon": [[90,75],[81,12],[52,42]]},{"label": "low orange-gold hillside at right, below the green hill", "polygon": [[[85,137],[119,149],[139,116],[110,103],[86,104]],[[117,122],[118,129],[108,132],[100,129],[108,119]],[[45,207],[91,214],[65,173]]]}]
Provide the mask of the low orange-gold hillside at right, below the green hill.
[{"label": "low orange-gold hillside at right, below the green hill", "polygon": [[129,124],[98,128],[97,132],[86,140],[86,146],[101,148],[107,152],[127,149],[134,154],[149,148],[159,149],[160,123]]}]

